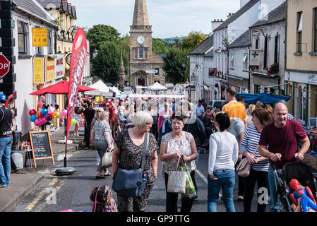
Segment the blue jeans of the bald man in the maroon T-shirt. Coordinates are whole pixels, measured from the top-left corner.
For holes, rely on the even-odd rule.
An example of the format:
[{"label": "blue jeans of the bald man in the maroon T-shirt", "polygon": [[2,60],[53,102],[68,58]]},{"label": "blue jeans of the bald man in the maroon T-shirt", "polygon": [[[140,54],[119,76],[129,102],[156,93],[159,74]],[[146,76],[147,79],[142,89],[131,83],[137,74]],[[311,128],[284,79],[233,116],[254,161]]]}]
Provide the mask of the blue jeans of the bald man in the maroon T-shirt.
[{"label": "blue jeans of the bald man in the maroon T-shirt", "polygon": [[273,171],[273,166],[270,164],[268,167],[268,186],[270,189],[270,212],[280,212],[280,203],[278,201],[277,196],[277,182],[275,181]]}]

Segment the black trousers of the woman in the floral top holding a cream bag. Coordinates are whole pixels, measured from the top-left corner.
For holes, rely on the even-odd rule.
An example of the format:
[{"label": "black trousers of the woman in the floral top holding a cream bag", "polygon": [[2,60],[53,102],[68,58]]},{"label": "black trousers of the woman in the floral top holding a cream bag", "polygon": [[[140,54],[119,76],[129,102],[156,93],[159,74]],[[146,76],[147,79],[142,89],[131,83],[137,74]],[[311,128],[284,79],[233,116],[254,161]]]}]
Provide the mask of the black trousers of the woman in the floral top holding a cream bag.
[{"label": "black trousers of the woman in the floral top holding a cream bag", "polygon": [[[191,172],[191,179],[195,185],[195,171]],[[169,181],[169,174],[165,173],[165,188],[167,190],[167,182]],[[196,186],[195,186],[196,187]],[[177,199],[179,194],[166,192],[166,212],[177,212]],[[191,198],[181,198],[181,213],[191,212],[191,207],[193,206],[193,199]]]}]

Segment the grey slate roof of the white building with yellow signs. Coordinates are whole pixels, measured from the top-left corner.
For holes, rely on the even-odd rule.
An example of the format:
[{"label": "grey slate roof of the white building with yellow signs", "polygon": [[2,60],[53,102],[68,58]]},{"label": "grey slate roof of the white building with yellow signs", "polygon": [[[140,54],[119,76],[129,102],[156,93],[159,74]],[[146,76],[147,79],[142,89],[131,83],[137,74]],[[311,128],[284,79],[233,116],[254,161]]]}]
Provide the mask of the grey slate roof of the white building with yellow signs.
[{"label": "grey slate roof of the white building with yellow signs", "polygon": [[52,20],[52,18],[48,16],[45,9],[41,8],[41,6],[38,6],[35,3],[35,0],[13,0],[13,4],[16,4],[16,6],[20,6],[21,8],[24,8],[26,11],[29,11],[30,13],[33,13],[44,20],[56,24],[54,20]]}]

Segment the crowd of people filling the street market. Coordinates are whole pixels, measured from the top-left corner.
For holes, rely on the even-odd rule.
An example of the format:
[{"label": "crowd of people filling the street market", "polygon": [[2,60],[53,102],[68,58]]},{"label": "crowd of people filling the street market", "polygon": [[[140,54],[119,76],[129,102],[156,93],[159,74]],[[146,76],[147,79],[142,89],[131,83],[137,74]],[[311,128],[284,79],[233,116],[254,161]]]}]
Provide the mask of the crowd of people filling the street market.
[{"label": "crowd of people filling the street market", "polygon": [[[286,102],[246,105],[236,98],[233,87],[226,89],[222,109],[215,109],[199,100],[196,105],[181,100],[106,100],[84,102],[85,143],[97,150],[97,179],[109,176],[101,159],[113,150],[112,172],[118,167],[138,169],[142,162],[145,133],[149,133],[145,157],[146,186],[142,196],[127,198],[118,194],[119,211],[145,211],[157,178],[157,162],[162,162],[166,187],[166,211],[177,212],[178,194],[167,192],[169,172],[183,160],[196,189],[191,198],[181,198],[181,212],[189,212],[198,195],[195,172],[202,149],[208,149],[208,206],[217,211],[222,199],[228,212],[234,212],[233,191],[237,178],[237,201],[244,203],[244,212],[251,211],[254,189],[268,189],[270,211],[279,211],[273,167],[282,169],[287,162],[301,161],[309,149],[309,139],[298,121],[292,120]],[[294,118],[293,118],[294,119]],[[298,145],[301,148],[297,152]],[[248,177],[237,175],[237,165],[246,158],[251,164]],[[104,174],[102,174],[104,170]],[[261,194],[258,192],[258,196]],[[264,212],[265,203],[257,211]]]}]

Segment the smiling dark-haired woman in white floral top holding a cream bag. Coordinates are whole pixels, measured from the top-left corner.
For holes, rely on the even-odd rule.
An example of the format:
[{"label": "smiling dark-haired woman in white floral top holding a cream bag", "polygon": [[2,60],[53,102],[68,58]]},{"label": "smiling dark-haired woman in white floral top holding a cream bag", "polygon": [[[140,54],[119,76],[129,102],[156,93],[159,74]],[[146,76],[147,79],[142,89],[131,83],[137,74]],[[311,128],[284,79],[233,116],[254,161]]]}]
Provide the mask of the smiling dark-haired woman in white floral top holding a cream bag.
[{"label": "smiling dark-haired woman in white floral top holding a cream bag", "polygon": [[[191,133],[183,131],[184,118],[181,116],[172,115],[172,132],[165,134],[162,137],[160,146],[160,160],[163,162],[163,174],[165,176],[165,187],[167,189],[167,182],[170,171],[177,169],[179,158],[183,157],[193,182],[195,181],[195,161],[197,158],[197,149],[195,139]],[[166,211],[177,212],[178,194],[166,194]],[[192,198],[181,199],[181,212],[190,212],[193,206]]]}]

